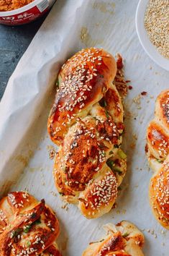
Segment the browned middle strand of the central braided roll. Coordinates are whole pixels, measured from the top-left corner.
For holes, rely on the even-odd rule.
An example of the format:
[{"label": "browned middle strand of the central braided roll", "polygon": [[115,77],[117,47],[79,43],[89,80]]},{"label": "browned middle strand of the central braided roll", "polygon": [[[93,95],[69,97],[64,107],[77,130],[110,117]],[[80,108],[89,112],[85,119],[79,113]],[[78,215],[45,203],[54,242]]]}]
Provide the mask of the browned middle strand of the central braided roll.
[{"label": "browned middle strand of the central braided roll", "polygon": [[[106,162],[106,154],[110,149],[105,143],[119,144],[117,128],[111,117],[103,121],[92,117],[88,117],[88,120],[79,119],[70,128],[55,160],[55,170],[62,172],[69,187],[85,189],[93,174]],[[123,127],[119,129],[121,131]],[[66,186],[65,182],[62,185]]]}]

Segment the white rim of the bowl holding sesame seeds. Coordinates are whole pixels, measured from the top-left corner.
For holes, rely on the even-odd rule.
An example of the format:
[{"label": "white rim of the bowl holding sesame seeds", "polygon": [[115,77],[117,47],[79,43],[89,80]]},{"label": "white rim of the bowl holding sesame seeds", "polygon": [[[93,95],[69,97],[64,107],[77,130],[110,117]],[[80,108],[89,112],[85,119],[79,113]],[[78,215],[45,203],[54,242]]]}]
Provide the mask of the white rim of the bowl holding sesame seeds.
[{"label": "white rim of the bowl holding sesame seeds", "polygon": [[160,67],[169,71],[169,59],[163,57],[153,46],[148,38],[147,31],[145,30],[144,19],[145,19],[145,11],[147,8],[149,0],[140,0],[137,6],[136,12],[136,29],[137,35],[139,37],[140,43],[142,47],[145,49],[145,52],[150,56],[150,58],[155,61]]}]

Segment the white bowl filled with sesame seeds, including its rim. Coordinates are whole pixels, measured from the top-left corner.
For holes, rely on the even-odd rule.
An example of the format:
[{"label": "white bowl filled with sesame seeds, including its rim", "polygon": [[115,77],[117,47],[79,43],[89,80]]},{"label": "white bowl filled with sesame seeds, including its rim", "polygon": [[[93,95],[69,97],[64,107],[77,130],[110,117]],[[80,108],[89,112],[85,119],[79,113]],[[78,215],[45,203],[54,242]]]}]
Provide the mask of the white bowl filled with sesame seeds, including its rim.
[{"label": "white bowl filled with sesame seeds, including its rim", "polygon": [[[165,28],[169,25],[166,19],[169,8],[166,9],[166,4],[169,5],[166,0],[140,0],[136,12],[136,29],[147,55],[160,67],[169,71],[168,34],[164,38]],[[158,18],[155,19],[155,16]],[[160,27],[161,25],[163,27]],[[158,35],[157,31],[160,31]]]}]

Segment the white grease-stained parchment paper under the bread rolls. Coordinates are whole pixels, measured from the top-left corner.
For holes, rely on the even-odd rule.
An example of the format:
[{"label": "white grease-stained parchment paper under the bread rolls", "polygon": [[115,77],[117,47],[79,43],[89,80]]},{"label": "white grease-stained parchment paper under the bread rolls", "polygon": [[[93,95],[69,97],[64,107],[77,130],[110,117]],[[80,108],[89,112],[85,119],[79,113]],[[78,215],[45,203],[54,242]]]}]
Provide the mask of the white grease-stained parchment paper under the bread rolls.
[{"label": "white grease-stained parchment paper under the bread rolls", "polygon": [[[122,220],[132,221],[143,230],[146,256],[169,255],[169,232],[155,221],[150,210],[148,185],[152,171],[145,157],[146,127],[154,115],[155,98],[169,87],[169,73],[157,67],[140,46],[134,24],[137,3],[58,0],[19,61],[0,104],[1,196],[28,189],[39,200],[45,198],[60,220],[58,244],[63,255],[81,255],[88,242],[104,234],[104,223]],[[87,220],[75,205],[64,205],[56,192],[53,161],[48,155],[55,145],[47,135],[47,115],[60,65],[76,51],[91,46],[122,54],[133,89],[124,104],[123,148],[128,171],[117,208],[99,219]],[[147,95],[137,98],[142,91]]]}]

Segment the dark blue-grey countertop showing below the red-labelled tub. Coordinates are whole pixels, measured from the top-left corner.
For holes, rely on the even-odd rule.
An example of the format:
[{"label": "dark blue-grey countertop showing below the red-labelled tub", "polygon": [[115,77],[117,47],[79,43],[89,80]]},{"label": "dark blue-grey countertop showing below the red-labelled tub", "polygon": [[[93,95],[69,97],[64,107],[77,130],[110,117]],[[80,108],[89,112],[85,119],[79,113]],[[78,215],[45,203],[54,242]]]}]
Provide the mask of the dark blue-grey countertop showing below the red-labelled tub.
[{"label": "dark blue-grey countertop showing below the red-labelled tub", "polygon": [[0,25],[0,100],[9,77],[46,16],[47,14],[35,22],[17,27]]}]

